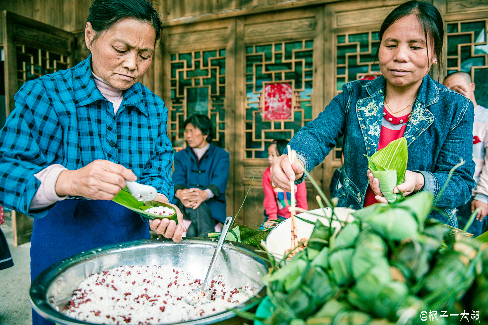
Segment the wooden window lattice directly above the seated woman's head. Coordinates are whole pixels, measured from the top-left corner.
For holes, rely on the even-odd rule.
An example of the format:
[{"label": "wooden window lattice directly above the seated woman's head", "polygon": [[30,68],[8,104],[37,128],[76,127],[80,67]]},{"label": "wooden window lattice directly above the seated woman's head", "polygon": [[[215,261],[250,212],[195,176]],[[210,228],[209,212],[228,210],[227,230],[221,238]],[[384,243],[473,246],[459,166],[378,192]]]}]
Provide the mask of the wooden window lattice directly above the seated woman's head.
[{"label": "wooden window lattice directly above the seated woman's head", "polygon": [[186,146],[183,122],[206,114],[214,126],[212,143],[225,147],[225,49],[171,55],[169,128],[175,151]]}]

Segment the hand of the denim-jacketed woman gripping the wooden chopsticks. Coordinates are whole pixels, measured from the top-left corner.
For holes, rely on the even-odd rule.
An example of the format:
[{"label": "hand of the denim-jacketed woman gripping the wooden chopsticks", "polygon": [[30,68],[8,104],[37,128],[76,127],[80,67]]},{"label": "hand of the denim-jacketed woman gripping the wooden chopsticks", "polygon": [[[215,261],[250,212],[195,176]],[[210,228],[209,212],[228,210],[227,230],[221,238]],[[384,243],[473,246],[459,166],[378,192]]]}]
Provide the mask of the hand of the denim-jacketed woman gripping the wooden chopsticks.
[{"label": "hand of the denim-jacketed woman gripping the wooden chopsticks", "polygon": [[[290,164],[287,154],[273,160],[271,166],[271,180],[283,191],[291,192],[290,180],[295,181],[304,174],[304,164],[300,159],[297,159],[293,164]],[[295,191],[297,186],[295,185]]]}]

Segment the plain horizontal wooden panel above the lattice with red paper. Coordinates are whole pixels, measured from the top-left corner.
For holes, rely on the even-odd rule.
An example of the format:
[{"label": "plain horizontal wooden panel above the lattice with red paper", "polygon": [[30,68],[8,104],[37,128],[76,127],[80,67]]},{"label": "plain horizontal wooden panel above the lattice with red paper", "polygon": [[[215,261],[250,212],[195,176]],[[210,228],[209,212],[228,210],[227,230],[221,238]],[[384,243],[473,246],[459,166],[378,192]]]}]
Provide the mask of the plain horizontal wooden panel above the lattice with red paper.
[{"label": "plain horizontal wooden panel above the lattice with red paper", "polygon": [[277,21],[271,23],[252,24],[244,26],[245,38],[275,36],[282,34],[313,32],[316,25],[315,18]]}]

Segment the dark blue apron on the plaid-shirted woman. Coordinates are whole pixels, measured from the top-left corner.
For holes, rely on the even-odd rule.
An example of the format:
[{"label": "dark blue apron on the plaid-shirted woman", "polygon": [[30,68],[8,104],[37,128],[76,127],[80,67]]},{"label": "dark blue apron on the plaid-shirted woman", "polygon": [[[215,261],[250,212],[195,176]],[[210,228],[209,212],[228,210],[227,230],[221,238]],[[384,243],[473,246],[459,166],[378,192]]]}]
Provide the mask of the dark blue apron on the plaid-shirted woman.
[{"label": "dark blue apron on the plaid-shirted woman", "polygon": [[[54,263],[100,246],[149,238],[139,214],[113,201],[67,199],[44,218],[34,219],[31,282]],[[32,311],[33,325],[54,325]]]}]

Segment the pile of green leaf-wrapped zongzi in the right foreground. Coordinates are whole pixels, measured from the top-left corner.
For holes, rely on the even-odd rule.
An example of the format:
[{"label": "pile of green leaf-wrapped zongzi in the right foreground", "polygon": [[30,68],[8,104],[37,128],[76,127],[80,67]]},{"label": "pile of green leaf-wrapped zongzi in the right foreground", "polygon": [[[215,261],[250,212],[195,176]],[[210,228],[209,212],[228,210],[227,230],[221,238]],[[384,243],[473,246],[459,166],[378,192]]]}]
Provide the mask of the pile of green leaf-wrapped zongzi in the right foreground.
[{"label": "pile of green leaf-wrapped zongzi in the right foreground", "polygon": [[290,261],[268,254],[270,316],[238,313],[264,325],[488,322],[488,243],[427,219],[434,205],[419,192],[357,210],[340,231],[317,221]]}]

